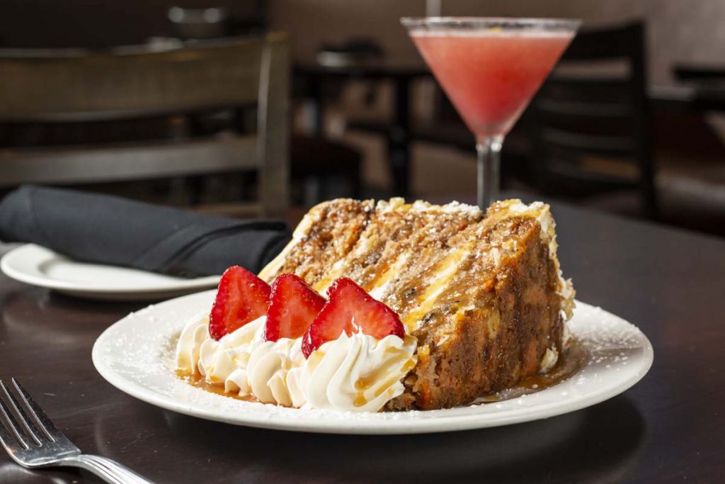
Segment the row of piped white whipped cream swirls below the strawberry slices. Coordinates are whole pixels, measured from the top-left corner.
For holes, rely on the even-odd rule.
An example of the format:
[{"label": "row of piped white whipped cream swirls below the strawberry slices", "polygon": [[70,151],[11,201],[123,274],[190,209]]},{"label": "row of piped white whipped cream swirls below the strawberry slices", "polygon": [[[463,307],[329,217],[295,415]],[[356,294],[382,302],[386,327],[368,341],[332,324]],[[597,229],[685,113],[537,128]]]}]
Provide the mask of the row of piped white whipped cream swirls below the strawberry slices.
[{"label": "row of piped white whipped cream swirls below the strawberry slices", "polygon": [[263,403],[378,411],[403,392],[401,380],[417,361],[415,337],[376,340],[360,333],[343,333],[305,359],[302,338],[265,341],[265,322],[262,316],[216,341],[209,319],[194,318],[179,337],[177,368]]}]

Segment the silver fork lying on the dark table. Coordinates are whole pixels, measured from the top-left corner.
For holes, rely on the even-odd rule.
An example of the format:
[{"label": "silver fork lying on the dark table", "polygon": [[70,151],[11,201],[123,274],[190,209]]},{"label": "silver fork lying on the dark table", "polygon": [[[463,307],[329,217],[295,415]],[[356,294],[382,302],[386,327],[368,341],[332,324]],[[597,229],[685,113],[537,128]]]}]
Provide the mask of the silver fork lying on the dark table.
[{"label": "silver fork lying on the dark table", "polygon": [[81,454],[14,378],[0,380],[0,443],[22,467],[80,467],[113,484],[151,484],[111,459]]}]

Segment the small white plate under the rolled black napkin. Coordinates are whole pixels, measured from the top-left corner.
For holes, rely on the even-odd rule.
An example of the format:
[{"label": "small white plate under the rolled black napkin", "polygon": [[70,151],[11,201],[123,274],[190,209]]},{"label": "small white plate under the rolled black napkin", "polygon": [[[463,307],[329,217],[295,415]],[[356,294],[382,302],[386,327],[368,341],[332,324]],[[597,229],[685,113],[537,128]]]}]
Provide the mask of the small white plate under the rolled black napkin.
[{"label": "small white plate under the rolled black napkin", "polygon": [[46,247],[26,244],[5,254],[0,269],[12,279],[102,300],[157,300],[215,287],[220,276],[183,279],[138,269],[73,261]]}]

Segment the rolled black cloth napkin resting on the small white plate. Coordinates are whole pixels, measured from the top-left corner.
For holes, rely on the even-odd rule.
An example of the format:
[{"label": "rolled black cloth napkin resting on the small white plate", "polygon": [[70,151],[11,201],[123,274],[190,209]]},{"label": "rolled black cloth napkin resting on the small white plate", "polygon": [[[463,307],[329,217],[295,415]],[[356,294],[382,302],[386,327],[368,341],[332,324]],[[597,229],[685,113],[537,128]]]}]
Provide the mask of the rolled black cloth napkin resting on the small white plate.
[{"label": "rolled black cloth napkin resting on the small white plate", "polygon": [[0,239],[77,261],[173,276],[257,273],[289,242],[281,221],[236,220],[67,189],[21,186],[0,202]]}]

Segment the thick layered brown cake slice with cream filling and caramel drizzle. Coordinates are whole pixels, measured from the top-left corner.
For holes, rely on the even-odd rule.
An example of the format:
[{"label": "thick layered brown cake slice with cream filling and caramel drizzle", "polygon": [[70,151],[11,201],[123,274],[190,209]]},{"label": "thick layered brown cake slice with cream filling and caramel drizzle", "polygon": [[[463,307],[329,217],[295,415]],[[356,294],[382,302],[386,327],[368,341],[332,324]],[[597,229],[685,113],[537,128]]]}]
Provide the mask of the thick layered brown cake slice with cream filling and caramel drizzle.
[{"label": "thick layered brown cake slice with cream filling and caramel drizzle", "polygon": [[349,277],[396,311],[418,340],[405,391],[386,410],[442,409],[516,385],[562,350],[573,288],[542,202],[484,214],[457,202],[338,199],[312,208],[262,272],[320,294]]}]

